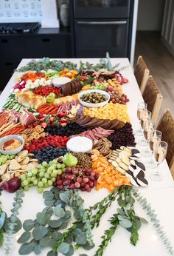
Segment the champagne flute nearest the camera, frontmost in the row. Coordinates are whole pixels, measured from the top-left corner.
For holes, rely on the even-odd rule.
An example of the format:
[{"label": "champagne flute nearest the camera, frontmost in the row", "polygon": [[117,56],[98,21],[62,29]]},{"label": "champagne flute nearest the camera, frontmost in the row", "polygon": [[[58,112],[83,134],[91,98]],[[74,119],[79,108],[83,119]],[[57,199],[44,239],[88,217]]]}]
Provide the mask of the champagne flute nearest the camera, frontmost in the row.
[{"label": "champagne flute nearest the camera, frontmost in the row", "polygon": [[167,155],[167,146],[167,142],[160,141],[159,146],[157,146],[156,149],[153,150],[153,155],[157,163],[156,172],[153,172],[150,175],[150,178],[153,181],[161,181],[163,179],[162,174],[159,172],[159,165],[164,161]]}]

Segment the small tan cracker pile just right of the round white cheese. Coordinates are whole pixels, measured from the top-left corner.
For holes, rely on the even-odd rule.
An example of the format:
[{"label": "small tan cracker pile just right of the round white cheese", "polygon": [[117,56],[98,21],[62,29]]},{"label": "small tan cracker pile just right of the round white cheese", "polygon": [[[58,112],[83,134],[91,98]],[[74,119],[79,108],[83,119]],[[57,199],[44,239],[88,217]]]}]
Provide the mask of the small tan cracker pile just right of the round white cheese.
[{"label": "small tan cracker pile just right of the round white cheese", "polygon": [[94,144],[94,149],[97,149],[105,158],[110,158],[112,155],[111,146],[111,141],[108,141],[107,138],[101,138]]}]

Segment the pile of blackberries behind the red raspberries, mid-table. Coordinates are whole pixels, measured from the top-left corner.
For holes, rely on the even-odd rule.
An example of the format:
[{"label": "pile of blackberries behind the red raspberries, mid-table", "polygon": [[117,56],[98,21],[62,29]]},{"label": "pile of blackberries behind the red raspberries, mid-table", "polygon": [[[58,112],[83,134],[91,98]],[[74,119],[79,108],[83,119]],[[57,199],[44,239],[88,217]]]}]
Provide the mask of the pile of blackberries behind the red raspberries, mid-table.
[{"label": "pile of blackberries behind the red raspberries, mid-table", "polygon": [[45,132],[49,132],[51,135],[60,135],[60,136],[71,136],[76,135],[81,132],[85,132],[86,128],[80,127],[80,125],[76,123],[67,124],[66,127],[57,127],[57,126],[48,126],[45,129]]}]

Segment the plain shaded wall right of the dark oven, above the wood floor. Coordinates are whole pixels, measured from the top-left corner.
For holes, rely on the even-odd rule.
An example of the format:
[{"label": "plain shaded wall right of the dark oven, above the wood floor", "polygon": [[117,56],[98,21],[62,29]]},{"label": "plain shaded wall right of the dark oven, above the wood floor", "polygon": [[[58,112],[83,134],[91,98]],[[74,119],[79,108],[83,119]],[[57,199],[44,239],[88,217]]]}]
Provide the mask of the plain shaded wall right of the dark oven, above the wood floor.
[{"label": "plain shaded wall right of the dark oven, above the wood floor", "polygon": [[161,30],[165,0],[139,0],[137,30]]}]

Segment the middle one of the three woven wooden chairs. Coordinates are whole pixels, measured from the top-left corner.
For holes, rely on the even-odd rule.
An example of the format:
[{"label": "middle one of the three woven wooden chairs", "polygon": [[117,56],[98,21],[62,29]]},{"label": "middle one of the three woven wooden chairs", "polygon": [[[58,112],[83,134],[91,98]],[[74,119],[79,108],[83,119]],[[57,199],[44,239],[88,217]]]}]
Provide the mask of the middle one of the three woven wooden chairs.
[{"label": "middle one of the three woven wooden chairs", "polygon": [[149,76],[145,90],[142,93],[144,101],[147,103],[147,109],[152,112],[151,119],[156,122],[159,118],[159,111],[162,104],[162,95],[157,87],[152,75]]}]

